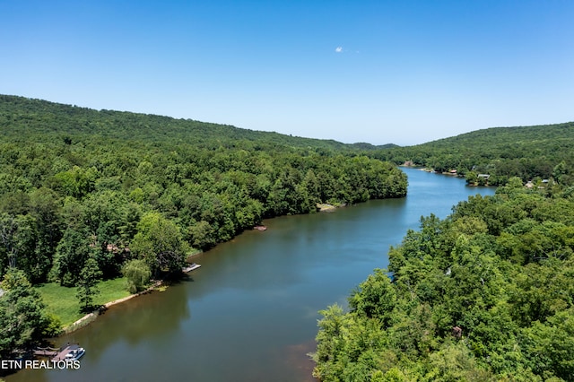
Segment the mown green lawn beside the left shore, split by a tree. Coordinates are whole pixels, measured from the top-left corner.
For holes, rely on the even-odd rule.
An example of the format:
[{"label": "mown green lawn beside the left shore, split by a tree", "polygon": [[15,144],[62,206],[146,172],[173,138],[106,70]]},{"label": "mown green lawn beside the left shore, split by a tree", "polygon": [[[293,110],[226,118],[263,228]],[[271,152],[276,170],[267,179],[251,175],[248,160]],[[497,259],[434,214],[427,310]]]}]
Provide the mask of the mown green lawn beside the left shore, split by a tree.
[{"label": "mown green lawn beside the left shore, split by a tree", "polygon": [[[83,317],[83,313],[80,313],[80,304],[75,297],[75,288],[66,288],[56,282],[45,283],[36,288],[42,296],[42,300],[44,300],[48,312],[59,317],[63,326],[69,326]],[[96,305],[103,305],[109,301],[123,299],[130,294],[126,291],[125,277],[100,282],[98,289],[100,290],[100,294],[94,298],[94,304]]]}]

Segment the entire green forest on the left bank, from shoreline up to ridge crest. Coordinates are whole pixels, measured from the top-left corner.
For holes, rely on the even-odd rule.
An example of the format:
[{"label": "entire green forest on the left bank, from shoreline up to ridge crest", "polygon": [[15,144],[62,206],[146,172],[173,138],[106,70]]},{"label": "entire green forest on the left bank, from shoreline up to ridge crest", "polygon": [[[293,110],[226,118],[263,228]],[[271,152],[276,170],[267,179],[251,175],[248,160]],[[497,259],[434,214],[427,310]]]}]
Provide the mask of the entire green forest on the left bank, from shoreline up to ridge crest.
[{"label": "entire green forest on the left bank, from shoreline up to ridge crest", "polygon": [[137,291],[188,254],[317,203],[402,197],[396,166],[345,145],[233,126],[0,96],[0,356],[57,320],[42,282],[126,275]]}]

